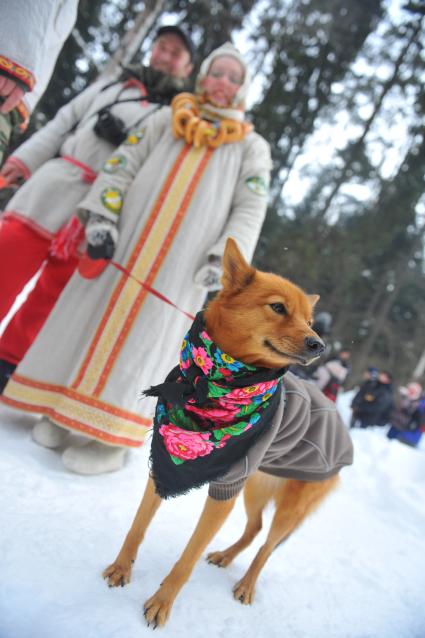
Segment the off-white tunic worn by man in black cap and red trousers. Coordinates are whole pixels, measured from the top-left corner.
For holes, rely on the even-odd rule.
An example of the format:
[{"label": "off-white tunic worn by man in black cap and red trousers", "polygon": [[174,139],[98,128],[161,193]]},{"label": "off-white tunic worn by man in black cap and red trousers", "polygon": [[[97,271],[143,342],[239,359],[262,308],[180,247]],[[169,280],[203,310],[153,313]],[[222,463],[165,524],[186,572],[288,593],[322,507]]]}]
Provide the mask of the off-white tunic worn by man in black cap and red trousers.
[{"label": "off-white tunic worn by man in black cap and red trousers", "polygon": [[[53,236],[76,213],[91,184],[81,168],[62,159],[71,156],[97,172],[114,146],[97,137],[93,126],[99,110],[116,102],[140,98],[141,89],[122,82],[95,82],[62,107],[51,122],[17,148],[12,161],[23,162],[31,177],[9,201],[7,212],[41,234]],[[105,90],[102,90],[105,88]],[[157,105],[135,101],[114,104],[111,112],[131,128]]]}]

